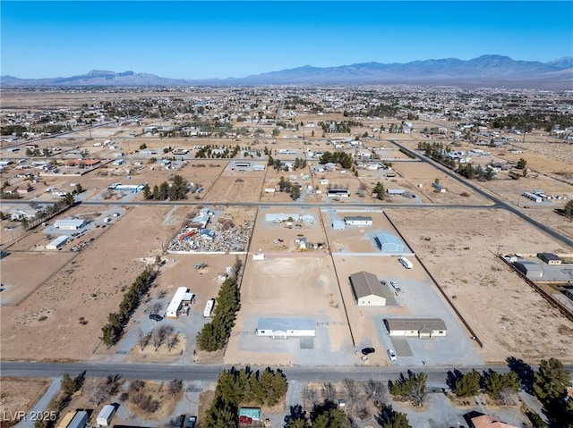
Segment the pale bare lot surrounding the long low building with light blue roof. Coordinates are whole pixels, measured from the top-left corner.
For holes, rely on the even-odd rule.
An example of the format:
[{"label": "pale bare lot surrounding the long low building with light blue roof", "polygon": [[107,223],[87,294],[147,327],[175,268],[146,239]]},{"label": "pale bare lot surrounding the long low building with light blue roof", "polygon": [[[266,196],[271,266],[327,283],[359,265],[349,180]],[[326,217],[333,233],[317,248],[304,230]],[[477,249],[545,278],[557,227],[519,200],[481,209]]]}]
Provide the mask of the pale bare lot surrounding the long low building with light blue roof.
[{"label": "pale bare lot surrounding the long low building with light blue roof", "polygon": [[[329,256],[249,259],[241,287],[241,311],[225,356],[227,364],[321,365],[346,360],[340,350],[352,346],[338,282]],[[317,327],[312,348],[299,340],[272,340],[252,333],[260,317],[312,318]],[[302,339],[300,339],[302,340]],[[301,341],[302,343],[302,341]]]}]

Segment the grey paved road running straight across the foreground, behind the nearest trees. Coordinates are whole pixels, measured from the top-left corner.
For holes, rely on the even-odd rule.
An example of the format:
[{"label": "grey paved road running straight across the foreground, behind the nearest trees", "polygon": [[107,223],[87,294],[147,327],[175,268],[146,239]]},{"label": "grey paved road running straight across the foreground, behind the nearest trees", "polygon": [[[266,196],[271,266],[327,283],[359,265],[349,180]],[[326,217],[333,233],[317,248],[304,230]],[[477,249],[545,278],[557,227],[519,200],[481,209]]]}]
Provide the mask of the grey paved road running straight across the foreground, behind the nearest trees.
[{"label": "grey paved road running straight across the foreground, behind the nearest trees", "polygon": [[[121,374],[124,379],[155,379],[184,381],[216,381],[221,370],[227,365],[165,365],[165,364],[133,364],[133,363],[45,363],[45,362],[0,362],[0,373],[3,376],[21,377],[60,377],[64,373],[75,376],[83,371],[87,377],[102,377],[108,374]],[[573,373],[573,365],[565,366]],[[263,370],[265,367],[252,367]],[[400,372],[407,370],[423,371],[428,374],[430,385],[445,385],[447,373],[458,368],[460,372],[470,372],[473,368],[478,371],[492,369],[499,373],[509,372],[507,365],[483,365],[475,367],[454,366],[420,366],[420,367],[364,367],[364,366],[319,366],[319,367],[284,367],[286,378],[291,381],[336,382],[345,378],[356,381],[369,379],[390,380],[398,378]],[[537,367],[532,366],[535,370]]]}]

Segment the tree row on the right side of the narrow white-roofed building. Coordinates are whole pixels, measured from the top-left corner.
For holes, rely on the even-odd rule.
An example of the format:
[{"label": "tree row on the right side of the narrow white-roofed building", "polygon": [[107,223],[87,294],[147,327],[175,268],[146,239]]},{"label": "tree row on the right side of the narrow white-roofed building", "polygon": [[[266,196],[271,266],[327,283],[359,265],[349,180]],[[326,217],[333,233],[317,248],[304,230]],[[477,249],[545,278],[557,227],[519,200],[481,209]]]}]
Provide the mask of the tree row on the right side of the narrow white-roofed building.
[{"label": "tree row on the right side of the narrow white-roofed building", "polygon": [[237,258],[234,266],[235,274],[227,278],[218,291],[213,320],[203,325],[197,334],[197,345],[202,350],[213,352],[227,345],[227,340],[235,325],[236,313],[241,308],[241,293],[238,284],[240,271],[241,261]]}]

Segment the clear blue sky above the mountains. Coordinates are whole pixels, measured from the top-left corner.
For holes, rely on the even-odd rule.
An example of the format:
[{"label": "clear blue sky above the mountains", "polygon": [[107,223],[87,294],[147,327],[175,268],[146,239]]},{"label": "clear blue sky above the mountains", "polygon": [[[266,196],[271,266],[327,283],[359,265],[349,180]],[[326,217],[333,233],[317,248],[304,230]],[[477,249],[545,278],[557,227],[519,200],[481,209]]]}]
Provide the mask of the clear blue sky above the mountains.
[{"label": "clear blue sky above the mountains", "polygon": [[0,74],[244,77],[303,65],[573,56],[573,2],[2,0]]}]

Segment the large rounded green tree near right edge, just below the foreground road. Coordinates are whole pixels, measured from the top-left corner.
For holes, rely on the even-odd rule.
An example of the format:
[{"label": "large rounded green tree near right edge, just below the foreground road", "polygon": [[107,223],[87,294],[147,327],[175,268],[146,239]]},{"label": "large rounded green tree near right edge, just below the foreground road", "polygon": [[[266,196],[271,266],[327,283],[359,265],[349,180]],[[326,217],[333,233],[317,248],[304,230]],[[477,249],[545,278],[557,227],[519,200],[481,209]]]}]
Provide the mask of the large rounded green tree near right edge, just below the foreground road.
[{"label": "large rounded green tree near right edge, just below the foreground road", "polygon": [[541,360],[539,370],[534,374],[534,393],[542,402],[565,397],[567,387],[571,385],[569,372],[560,360],[550,358]]}]

